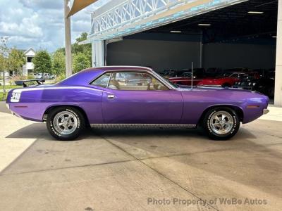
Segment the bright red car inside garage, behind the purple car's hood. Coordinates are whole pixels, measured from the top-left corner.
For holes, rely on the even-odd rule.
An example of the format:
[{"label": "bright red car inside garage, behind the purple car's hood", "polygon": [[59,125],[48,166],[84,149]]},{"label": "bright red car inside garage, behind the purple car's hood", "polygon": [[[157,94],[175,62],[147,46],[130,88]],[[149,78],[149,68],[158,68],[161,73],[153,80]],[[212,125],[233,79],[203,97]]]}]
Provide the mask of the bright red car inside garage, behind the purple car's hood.
[{"label": "bright red car inside garage, behind the purple car's hood", "polygon": [[226,76],[206,78],[202,79],[202,82],[198,83],[198,86],[221,86],[221,87],[233,87],[235,82],[240,82],[240,79],[246,77],[252,77],[259,79],[260,75],[257,72],[229,72]]}]

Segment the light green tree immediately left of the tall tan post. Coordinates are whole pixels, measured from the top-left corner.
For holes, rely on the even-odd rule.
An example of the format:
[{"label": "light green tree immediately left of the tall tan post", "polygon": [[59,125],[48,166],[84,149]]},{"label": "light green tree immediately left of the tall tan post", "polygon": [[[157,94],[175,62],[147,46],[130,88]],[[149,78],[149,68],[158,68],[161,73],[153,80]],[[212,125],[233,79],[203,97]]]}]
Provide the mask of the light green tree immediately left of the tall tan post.
[{"label": "light green tree immediately left of the tall tan post", "polygon": [[66,72],[66,56],[63,51],[55,51],[52,55],[52,69],[54,75],[64,75]]}]

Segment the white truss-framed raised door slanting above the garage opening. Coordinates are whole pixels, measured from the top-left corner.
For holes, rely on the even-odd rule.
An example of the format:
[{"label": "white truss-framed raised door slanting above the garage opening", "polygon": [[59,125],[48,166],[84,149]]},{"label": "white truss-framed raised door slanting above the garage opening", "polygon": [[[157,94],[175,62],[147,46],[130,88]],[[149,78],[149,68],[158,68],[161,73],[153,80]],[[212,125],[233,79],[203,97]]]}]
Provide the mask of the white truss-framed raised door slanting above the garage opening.
[{"label": "white truss-framed raised door slanting above the garage opening", "polygon": [[81,44],[123,37],[247,0],[116,0],[99,8]]}]

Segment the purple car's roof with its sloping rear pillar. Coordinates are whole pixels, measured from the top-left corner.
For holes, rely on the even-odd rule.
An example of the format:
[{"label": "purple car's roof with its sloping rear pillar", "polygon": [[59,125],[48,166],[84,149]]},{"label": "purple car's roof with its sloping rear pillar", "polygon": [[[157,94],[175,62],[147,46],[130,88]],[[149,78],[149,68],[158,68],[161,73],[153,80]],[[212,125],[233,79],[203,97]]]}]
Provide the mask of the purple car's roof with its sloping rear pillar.
[{"label": "purple car's roof with its sloping rear pillar", "polygon": [[153,71],[151,68],[139,67],[139,66],[104,66],[98,68],[88,68],[85,70],[81,70],[74,75],[64,79],[59,82],[57,85],[59,86],[75,86],[75,85],[87,85],[93,79],[102,75],[104,72],[108,71],[118,71],[118,70],[134,70],[134,71]]}]

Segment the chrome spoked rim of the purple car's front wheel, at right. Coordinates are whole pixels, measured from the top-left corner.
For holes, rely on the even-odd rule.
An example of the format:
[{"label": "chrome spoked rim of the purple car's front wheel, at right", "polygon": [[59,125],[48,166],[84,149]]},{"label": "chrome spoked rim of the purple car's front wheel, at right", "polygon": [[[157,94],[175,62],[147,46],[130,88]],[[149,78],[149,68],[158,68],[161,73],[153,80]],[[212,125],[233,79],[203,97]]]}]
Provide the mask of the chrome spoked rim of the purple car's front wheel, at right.
[{"label": "chrome spoked rim of the purple car's front wheel, at right", "polygon": [[226,111],[218,111],[214,113],[209,120],[209,126],[211,127],[212,131],[219,135],[224,135],[231,132],[233,125],[233,117]]}]

